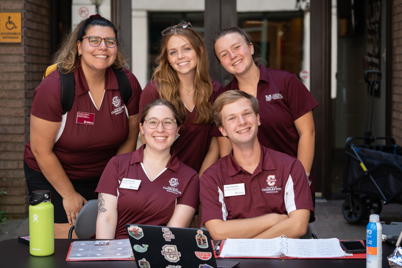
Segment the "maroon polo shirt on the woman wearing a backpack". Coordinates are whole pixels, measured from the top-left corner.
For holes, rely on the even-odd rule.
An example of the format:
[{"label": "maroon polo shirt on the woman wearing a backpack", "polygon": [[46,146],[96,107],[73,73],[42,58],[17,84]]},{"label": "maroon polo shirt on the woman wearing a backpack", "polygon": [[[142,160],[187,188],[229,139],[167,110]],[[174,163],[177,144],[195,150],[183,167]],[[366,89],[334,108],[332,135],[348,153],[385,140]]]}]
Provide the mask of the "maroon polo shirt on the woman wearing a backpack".
[{"label": "maroon polo shirt on the woman wearing a backpack", "polygon": [[[120,96],[117,78],[112,68],[107,68],[105,93],[99,110],[96,108],[84,72],[79,67],[74,71],[74,103],[62,116],[61,82],[59,70],[50,73],[33,93],[31,114],[50,122],[62,122],[56,136],[53,152],[70,179],[89,179],[102,175],[109,160],[116,155],[119,146],[127,140],[128,115],[138,113],[141,87],[137,78],[127,69],[132,95],[124,105]],[[78,112],[94,116],[93,124],[79,124]],[[94,115],[93,115],[94,114]],[[80,122],[80,121],[78,121]],[[31,143],[25,146],[24,160],[27,165],[41,172],[31,151]]]}]

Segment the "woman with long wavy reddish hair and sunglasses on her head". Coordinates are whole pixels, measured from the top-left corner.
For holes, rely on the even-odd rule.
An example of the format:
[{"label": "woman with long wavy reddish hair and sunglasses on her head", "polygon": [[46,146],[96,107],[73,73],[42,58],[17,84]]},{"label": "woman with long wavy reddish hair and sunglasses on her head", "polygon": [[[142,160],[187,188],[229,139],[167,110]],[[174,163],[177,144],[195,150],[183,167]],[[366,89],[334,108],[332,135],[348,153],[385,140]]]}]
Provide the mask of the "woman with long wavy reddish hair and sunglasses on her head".
[{"label": "woman with long wavy reddish hair and sunglasses on her head", "polygon": [[169,27],[162,31],[162,37],[153,80],[141,93],[139,117],[155,99],[172,103],[183,121],[172,149],[180,161],[201,175],[219,159],[217,139],[209,134],[213,124],[211,105],[222,85],[209,77],[204,42],[190,23]]}]

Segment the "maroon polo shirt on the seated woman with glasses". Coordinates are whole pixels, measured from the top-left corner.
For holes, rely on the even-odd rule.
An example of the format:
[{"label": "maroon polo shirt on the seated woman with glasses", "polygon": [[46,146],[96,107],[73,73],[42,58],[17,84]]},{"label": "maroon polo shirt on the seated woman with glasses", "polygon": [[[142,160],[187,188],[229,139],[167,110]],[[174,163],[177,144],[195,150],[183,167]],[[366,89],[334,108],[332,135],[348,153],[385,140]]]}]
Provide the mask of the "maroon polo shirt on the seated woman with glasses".
[{"label": "maroon polo shirt on the seated woman with glasses", "polygon": [[[125,225],[166,225],[176,204],[198,211],[199,177],[191,167],[180,162],[171,151],[166,168],[153,181],[142,165],[145,144],[133,153],[113,157],[96,188],[96,192],[117,196],[115,239],[127,238]],[[123,178],[141,180],[138,190],[121,188]]]}]

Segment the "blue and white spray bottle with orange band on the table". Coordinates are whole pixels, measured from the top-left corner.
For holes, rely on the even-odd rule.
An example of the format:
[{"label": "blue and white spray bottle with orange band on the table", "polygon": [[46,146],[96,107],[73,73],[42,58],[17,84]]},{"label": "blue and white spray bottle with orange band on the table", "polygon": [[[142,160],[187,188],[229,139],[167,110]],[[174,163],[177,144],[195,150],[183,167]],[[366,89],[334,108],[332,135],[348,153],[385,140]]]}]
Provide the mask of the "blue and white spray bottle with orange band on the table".
[{"label": "blue and white spray bottle with orange band on the table", "polygon": [[379,215],[371,214],[367,224],[367,268],[381,268],[382,266],[382,226]]}]

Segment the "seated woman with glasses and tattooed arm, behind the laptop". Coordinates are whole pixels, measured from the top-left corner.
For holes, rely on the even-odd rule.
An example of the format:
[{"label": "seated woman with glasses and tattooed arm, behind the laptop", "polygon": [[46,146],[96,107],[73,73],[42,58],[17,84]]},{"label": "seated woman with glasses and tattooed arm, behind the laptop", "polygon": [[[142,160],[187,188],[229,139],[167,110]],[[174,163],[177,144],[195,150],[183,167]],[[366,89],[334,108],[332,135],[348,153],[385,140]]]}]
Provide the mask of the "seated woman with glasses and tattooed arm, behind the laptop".
[{"label": "seated woman with glasses and tattooed arm, behind the laptop", "polygon": [[198,174],[170,148],[181,125],[176,108],[156,99],[140,122],[146,144],[113,157],[100,177],[96,239],[127,238],[127,223],[188,227],[198,210]]}]

